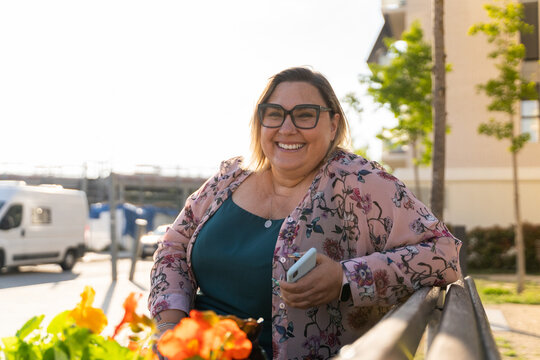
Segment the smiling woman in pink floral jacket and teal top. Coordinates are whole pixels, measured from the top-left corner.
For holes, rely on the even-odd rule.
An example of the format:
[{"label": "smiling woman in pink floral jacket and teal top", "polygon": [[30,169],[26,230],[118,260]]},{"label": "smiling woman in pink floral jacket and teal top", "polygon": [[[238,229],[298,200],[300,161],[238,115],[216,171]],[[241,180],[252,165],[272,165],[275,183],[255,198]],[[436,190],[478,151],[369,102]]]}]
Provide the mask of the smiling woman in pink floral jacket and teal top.
[{"label": "smiling woman in pink floral jacket and teal top", "polygon": [[[224,162],[154,256],[161,330],[192,308],[262,316],[269,357],[329,358],[416,289],[458,279],[461,242],[402,182],[343,150],[347,121],[321,74],[272,77],[251,131],[252,169]],[[311,247],[316,267],[287,283]]]}]

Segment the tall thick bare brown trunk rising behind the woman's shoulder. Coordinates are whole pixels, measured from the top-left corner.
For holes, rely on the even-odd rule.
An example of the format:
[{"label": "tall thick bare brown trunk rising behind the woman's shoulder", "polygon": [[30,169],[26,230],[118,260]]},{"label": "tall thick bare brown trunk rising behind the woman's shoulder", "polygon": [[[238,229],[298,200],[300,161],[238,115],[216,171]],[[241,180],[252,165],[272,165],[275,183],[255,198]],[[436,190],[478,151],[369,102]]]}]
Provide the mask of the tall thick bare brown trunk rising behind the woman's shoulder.
[{"label": "tall thick bare brown trunk rising behind the woman's shoulder", "polygon": [[431,210],[443,220],[446,141],[446,66],[444,53],[444,0],[433,0],[433,160]]}]

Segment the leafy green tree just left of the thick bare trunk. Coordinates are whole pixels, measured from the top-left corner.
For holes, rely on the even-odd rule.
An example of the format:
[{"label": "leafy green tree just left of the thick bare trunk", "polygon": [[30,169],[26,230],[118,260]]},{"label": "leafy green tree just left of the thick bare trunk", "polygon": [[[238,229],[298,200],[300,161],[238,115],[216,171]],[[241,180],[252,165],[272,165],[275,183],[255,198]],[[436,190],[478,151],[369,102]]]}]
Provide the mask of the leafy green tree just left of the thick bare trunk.
[{"label": "leafy green tree just left of the thick bare trunk", "polygon": [[[402,40],[386,39],[388,64],[369,64],[371,75],[361,78],[367,93],[387,107],[398,120],[378,135],[391,147],[410,145],[414,164],[415,192],[420,196],[419,165],[431,162],[431,47],[423,41],[418,22],[403,33]],[[348,95],[348,98],[354,98]]]}]

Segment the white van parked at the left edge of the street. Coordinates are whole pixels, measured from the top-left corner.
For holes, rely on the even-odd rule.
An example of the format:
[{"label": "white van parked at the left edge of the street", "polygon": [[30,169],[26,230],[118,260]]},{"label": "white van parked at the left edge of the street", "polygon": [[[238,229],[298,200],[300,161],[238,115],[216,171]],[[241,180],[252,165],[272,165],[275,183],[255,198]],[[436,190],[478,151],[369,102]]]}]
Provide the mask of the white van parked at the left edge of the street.
[{"label": "white van parked at the left edge of the street", "polygon": [[83,191],[0,181],[0,268],[58,263],[71,270],[84,254],[87,223]]}]

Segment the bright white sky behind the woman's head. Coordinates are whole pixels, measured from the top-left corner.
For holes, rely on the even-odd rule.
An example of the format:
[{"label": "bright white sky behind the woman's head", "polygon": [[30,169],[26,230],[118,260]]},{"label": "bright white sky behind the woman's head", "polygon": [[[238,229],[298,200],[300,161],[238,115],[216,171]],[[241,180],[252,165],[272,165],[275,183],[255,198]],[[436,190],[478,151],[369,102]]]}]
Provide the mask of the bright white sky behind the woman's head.
[{"label": "bright white sky behind the woman's head", "polygon": [[2,1],[0,173],[213,173],[249,153],[268,78],[298,65],[362,95],[349,121],[377,158],[388,115],[357,78],[382,21],[372,0]]}]

